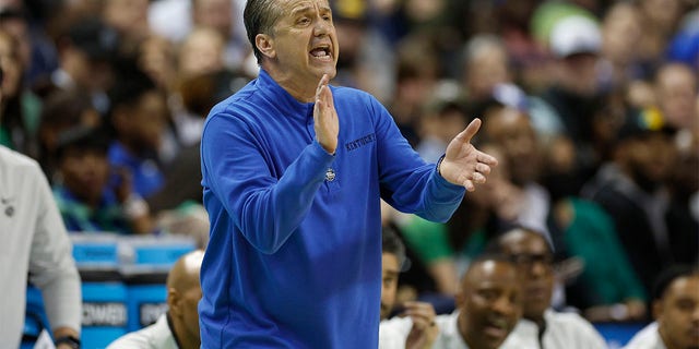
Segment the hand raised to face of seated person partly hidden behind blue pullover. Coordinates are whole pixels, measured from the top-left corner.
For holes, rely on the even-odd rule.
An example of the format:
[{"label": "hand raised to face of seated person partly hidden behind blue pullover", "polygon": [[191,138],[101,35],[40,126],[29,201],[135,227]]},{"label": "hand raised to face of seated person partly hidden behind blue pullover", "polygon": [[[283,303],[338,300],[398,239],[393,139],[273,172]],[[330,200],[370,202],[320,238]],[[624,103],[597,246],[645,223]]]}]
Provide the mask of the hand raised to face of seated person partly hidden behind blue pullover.
[{"label": "hand raised to face of seated person partly hidden behind blue pullover", "polygon": [[405,340],[406,349],[427,349],[439,335],[439,327],[435,324],[435,308],[426,302],[405,302],[405,315],[413,320],[413,328]]}]

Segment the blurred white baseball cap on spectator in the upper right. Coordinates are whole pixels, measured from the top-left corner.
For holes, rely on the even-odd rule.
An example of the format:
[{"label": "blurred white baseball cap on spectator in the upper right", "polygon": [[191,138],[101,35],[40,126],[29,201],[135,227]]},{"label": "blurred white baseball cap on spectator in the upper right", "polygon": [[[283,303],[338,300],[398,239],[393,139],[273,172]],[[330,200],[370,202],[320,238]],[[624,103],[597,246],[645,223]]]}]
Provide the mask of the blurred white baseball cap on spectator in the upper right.
[{"label": "blurred white baseball cap on spectator in the upper right", "polygon": [[599,24],[584,15],[562,17],[554,24],[550,32],[549,49],[559,58],[576,53],[597,53],[601,45]]}]

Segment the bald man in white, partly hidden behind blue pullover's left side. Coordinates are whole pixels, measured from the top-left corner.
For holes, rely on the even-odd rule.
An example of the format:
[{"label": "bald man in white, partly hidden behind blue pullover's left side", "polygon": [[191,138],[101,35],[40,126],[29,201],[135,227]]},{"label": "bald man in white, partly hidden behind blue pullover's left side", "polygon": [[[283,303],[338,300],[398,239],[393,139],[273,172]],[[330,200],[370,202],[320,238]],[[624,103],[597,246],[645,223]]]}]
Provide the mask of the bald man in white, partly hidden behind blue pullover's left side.
[{"label": "bald man in white, partly hidden behind blue pullover's left side", "polygon": [[201,345],[199,270],[204,251],[189,252],[175,263],[167,276],[168,311],[155,324],[118,338],[107,349],[194,349]]}]

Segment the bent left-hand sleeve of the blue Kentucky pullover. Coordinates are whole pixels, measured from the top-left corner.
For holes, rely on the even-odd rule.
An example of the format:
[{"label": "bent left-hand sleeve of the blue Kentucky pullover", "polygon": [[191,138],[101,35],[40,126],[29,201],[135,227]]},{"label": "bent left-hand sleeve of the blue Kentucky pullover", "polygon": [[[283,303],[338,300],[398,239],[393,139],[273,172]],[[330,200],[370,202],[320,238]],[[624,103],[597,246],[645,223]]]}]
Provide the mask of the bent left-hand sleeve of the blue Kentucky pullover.
[{"label": "bent left-hand sleeve of the blue Kentucky pullover", "polygon": [[203,183],[245,238],[271,254],[300,225],[334,156],[313,141],[277,180],[261,152],[263,141],[251,134],[239,118],[208,121],[201,144]]}]

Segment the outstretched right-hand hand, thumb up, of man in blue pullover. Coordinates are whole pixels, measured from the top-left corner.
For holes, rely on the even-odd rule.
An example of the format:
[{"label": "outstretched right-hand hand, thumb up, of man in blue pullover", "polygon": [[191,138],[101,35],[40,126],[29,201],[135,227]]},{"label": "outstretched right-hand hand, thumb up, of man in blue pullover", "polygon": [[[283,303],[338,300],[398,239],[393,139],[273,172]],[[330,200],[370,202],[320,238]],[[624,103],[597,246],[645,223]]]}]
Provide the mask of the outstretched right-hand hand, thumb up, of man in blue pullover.
[{"label": "outstretched right-hand hand, thumb up, of man in blue pullover", "polygon": [[474,119],[461,131],[447,147],[445,158],[439,166],[439,173],[453,184],[463,185],[467,191],[475,190],[475,184],[486,181],[490,167],[498,165],[498,160],[476,149],[471,139],[481,129],[481,119]]}]

